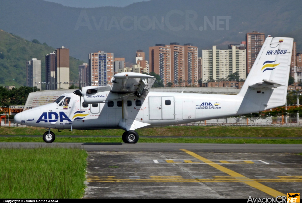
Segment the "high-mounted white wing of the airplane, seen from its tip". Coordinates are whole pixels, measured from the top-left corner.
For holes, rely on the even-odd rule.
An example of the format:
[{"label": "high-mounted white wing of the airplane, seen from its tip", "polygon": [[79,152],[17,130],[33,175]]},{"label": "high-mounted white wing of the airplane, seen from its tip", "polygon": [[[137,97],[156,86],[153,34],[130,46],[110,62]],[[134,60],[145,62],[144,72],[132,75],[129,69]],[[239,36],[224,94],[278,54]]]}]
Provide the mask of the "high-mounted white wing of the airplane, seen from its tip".
[{"label": "high-mounted white wing of the airplane, seen from its tip", "polygon": [[111,92],[119,94],[134,93],[141,97],[144,91],[149,91],[155,82],[155,77],[137,72],[120,72],[113,76],[111,82]]}]

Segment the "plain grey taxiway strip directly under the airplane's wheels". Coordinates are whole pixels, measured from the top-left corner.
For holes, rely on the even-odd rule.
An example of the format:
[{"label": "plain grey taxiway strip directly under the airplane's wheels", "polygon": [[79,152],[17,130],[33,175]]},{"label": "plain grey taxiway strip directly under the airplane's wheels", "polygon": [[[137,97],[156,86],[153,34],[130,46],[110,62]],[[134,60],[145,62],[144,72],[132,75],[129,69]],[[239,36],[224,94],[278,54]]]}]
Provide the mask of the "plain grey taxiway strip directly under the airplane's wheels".
[{"label": "plain grey taxiway strip directly under the airplane's wheels", "polygon": [[206,143],[26,143],[2,142],[0,148],[79,147],[87,151],[148,151],[179,152],[179,149],[196,152],[219,153],[302,153],[302,144],[206,144]]}]

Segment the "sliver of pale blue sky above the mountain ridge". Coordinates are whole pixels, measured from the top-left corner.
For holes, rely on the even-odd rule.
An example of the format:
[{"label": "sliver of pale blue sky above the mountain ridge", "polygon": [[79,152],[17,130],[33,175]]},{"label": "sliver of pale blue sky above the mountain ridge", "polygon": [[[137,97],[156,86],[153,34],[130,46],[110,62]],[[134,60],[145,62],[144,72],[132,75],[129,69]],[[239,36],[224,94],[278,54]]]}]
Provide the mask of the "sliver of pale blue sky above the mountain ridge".
[{"label": "sliver of pale blue sky above the mountain ridge", "polygon": [[47,2],[59,3],[64,6],[76,7],[76,8],[95,8],[103,6],[117,6],[125,7],[127,5],[136,3],[136,2],[147,2],[149,0],[44,0]]}]

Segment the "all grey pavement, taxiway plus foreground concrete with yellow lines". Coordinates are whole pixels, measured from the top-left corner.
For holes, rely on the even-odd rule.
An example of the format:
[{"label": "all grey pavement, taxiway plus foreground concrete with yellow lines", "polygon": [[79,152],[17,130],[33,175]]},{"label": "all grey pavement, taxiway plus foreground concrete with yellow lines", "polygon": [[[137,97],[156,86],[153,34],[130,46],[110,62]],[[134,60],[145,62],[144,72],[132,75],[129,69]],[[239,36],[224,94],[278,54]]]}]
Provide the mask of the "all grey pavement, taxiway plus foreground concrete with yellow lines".
[{"label": "all grey pavement, taxiway plus foreground concrete with yellow lines", "polygon": [[0,143],[88,151],[84,198],[252,198],[299,193],[302,144]]}]

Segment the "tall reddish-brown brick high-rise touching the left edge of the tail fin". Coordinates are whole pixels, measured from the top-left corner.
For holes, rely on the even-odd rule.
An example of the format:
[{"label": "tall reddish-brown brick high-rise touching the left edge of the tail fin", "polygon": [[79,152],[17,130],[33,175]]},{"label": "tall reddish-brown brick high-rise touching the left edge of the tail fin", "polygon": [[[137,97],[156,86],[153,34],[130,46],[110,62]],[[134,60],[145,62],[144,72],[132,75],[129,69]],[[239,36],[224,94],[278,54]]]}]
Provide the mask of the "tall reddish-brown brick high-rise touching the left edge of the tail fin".
[{"label": "tall reddish-brown brick high-rise touching the left edge of the tail fin", "polygon": [[246,34],[246,70],[247,73],[251,70],[260,50],[264,43],[264,33],[253,31]]}]

